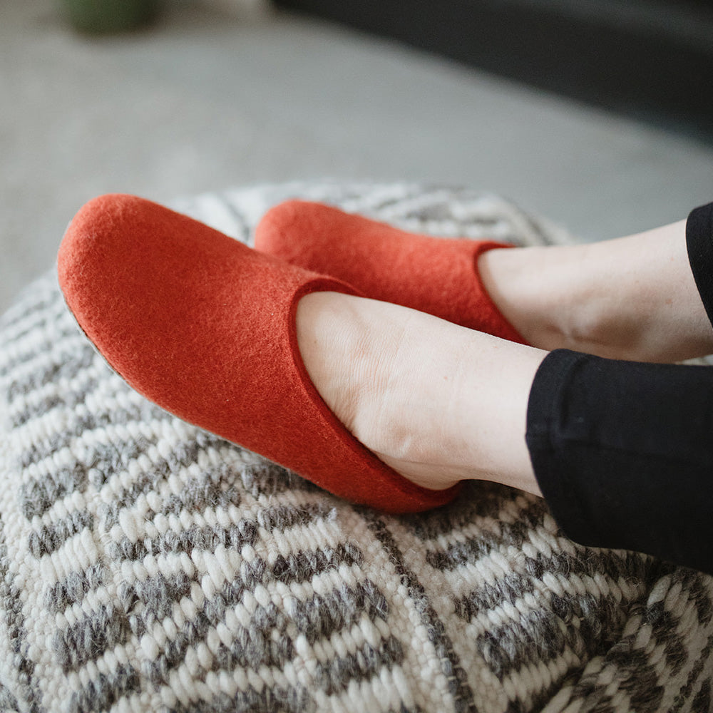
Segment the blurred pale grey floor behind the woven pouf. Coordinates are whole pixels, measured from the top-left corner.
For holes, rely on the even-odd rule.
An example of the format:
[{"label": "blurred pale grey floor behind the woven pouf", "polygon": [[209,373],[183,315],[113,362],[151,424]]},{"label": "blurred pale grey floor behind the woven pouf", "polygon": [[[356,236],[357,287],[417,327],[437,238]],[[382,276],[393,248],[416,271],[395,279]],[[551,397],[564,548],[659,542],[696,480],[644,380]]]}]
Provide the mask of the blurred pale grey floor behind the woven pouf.
[{"label": "blurred pale grey floor behind the woven pouf", "polygon": [[[58,0],[56,0],[58,2]],[[227,0],[222,0],[227,4]],[[86,39],[52,0],[0,9],[0,312],[100,193],[170,201],[309,178],[512,198],[585,240],[713,199],[713,146],[320,21],[167,0]]]}]

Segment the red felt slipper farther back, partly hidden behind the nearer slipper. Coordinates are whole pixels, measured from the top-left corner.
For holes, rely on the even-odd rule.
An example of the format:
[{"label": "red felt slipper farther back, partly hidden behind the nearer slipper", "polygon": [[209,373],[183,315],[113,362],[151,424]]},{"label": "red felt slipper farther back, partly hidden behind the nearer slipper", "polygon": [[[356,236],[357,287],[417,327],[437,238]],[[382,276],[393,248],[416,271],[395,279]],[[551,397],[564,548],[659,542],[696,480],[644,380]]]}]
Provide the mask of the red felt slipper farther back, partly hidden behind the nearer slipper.
[{"label": "red felt slipper farther back, partly hidden behind the nearer slipper", "polygon": [[255,232],[256,250],[342,279],[366,297],[524,343],[493,303],[478,273],[478,257],[498,247],[512,246],[415,235],[302,200],[271,208]]}]

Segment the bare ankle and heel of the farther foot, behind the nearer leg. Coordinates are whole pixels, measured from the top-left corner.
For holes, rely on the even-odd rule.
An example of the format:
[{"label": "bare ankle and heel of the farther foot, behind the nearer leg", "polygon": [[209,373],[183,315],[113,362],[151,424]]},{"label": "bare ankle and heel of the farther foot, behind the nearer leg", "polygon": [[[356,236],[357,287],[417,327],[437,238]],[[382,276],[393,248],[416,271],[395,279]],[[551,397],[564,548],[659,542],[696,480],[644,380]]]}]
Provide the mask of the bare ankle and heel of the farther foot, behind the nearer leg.
[{"label": "bare ankle and heel of the farther foot, behind the nearer leg", "polygon": [[486,289],[529,344],[632,361],[713,353],[686,222],[587,245],[490,250]]}]

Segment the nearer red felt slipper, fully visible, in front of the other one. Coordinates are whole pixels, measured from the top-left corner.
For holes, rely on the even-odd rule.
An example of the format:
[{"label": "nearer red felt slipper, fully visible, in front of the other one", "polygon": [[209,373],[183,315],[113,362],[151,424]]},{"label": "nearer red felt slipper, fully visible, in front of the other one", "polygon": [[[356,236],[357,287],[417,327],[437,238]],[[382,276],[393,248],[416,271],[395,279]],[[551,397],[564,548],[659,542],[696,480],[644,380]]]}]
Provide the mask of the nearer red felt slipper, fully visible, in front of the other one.
[{"label": "nearer red felt slipper, fully visible, in front of the other one", "polygon": [[358,294],[260,255],[155,203],[106,195],[85,205],[58,255],[81,329],[130,386],[184,421],[260,453],[355,503],[415,512],[457,486],[416,486],[356,441],[310,381],[297,302]]}]

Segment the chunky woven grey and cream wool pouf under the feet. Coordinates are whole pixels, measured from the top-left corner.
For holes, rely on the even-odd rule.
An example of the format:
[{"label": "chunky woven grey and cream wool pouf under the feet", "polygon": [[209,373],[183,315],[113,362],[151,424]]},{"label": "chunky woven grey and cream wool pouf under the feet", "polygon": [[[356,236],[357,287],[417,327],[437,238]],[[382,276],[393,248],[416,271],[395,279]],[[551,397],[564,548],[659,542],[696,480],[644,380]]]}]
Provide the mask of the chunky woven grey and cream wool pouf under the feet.
[{"label": "chunky woven grey and cream wool pouf under the feet", "polygon": [[[292,184],[180,202],[250,240],[270,205],[406,230],[568,236],[467,190]],[[54,271],[0,322],[0,709],[712,710],[713,578],[563,537],[543,501],[350,506],[143,399]]]}]

